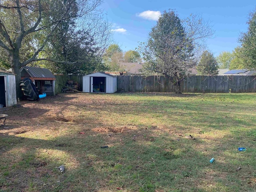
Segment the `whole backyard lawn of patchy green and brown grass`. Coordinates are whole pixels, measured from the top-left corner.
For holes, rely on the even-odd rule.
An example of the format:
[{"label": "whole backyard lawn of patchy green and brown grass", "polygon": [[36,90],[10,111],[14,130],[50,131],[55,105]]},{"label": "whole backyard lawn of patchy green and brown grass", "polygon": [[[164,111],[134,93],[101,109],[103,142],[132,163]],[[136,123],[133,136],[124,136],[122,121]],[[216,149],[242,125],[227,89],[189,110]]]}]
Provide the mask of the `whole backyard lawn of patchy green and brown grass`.
[{"label": "whole backyard lawn of patchy green and brown grass", "polygon": [[256,191],[255,93],[69,93],[20,104],[2,112],[0,192]]}]

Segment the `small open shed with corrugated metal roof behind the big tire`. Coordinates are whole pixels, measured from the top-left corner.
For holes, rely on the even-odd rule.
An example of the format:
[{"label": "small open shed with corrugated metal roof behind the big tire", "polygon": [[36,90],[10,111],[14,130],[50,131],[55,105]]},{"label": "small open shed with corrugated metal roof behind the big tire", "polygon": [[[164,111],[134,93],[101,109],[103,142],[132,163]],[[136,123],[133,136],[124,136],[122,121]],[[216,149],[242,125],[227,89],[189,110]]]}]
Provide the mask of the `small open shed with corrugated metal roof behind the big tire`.
[{"label": "small open shed with corrugated metal roof behind the big tire", "polygon": [[21,79],[30,78],[39,93],[45,92],[47,96],[55,95],[55,76],[49,69],[24,66],[20,69]]}]

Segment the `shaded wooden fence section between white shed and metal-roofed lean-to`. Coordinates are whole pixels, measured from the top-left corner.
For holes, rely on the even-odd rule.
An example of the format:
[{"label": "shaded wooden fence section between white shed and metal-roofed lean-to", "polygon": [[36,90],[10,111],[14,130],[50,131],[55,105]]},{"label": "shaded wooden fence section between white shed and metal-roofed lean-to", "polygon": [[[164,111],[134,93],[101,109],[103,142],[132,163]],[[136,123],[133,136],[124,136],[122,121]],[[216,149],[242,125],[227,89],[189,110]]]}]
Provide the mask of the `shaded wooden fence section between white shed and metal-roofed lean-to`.
[{"label": "shaded wooden fence section between white shed and metal-roofed lean-to", "polygon": [[[80,91],[83,89],[83,76],[82,75],[54,75],[56,78],[55,81],[55,92],[60,93],[62,90],[61,85],[66,85],[67,80],[73,80],[80,84]],[[61,85],[60,85],[61,84]]]}]

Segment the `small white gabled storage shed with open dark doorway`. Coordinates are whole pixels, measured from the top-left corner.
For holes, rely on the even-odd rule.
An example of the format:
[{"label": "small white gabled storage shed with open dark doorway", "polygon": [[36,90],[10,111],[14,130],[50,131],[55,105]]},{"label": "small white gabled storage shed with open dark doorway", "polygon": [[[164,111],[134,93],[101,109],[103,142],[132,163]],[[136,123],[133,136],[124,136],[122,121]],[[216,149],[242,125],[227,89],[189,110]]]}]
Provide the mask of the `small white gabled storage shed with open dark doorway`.
[{"label": "small white gabled storage shed with open dark doorway", "polygon": [[116,76],[102,72],[83,76],[83,92],[85,93],[114,93],[116,90]]}]

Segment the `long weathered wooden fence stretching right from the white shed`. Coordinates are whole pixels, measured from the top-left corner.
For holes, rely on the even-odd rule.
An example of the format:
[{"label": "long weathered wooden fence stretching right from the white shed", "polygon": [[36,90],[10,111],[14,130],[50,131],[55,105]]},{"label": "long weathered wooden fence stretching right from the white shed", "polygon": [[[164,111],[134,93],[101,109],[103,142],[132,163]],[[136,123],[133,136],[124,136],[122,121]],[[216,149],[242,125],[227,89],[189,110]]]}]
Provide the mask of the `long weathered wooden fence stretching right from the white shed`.
[{"label": "long weathered wooden fence stretching right from the white shed", "polygon": [[[117,90],[124,92],[174,92],[169,78],[162,76],[118,76]],[[183,93],[256,92],[256,76],[188,76],[180,82]]]}]

